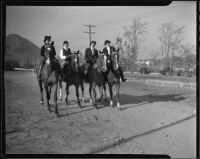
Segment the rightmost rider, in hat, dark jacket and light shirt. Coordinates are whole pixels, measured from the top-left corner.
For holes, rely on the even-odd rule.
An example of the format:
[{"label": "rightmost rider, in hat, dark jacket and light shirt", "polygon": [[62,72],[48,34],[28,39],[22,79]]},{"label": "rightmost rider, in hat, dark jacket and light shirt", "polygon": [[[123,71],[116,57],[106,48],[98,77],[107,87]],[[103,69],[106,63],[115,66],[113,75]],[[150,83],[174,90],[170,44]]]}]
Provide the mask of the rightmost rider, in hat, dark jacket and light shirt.
[{"label": "rightmost rider, in hat, dark jacket and light shirt", "polygon": [[[116,52],[115,48],[110,46],[110,43],[111,41],[109,40],[105,40],[104,42],[104,45],[106,46],[105,48],[103,48],[103,53],[107,56],[107,58],[111,61],[111,54],[113,52]],[[125,82],[127,79],[124,78],[124,74],[123,74],[123,71],[122,71],[122,68],[121,66],[119,66],[119,73],[120,73],[120,76],[121,76],[121,79],[123,82]]]}]

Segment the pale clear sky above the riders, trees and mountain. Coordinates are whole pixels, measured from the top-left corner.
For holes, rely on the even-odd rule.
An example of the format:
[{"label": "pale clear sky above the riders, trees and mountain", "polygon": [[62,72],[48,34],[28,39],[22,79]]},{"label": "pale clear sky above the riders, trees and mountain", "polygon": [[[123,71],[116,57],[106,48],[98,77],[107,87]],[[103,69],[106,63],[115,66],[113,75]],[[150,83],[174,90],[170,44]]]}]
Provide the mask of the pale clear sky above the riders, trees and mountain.
[{"label": "pale clear sky above the riders, trees and mountain", "polygon": [[19,34],[38,47],[43,45],[45,35],[51,35],[57,54],[63,41],[69,41],[73,51],[89,46],[89,35],[84,33],[92,24],[92,40],[96,48],[102,50],[104,41],[115,44],[119,35],[125,41],[124,26],[129,26],[134,18],[147,22],[145,41],[139,46],[138,57],[150,58],[160,51],[158,39],[161,24],[174,21],[185,26],[183,44],[196,46],[196,2],[175,1],[168,6],[7,6],[6,35]]}]

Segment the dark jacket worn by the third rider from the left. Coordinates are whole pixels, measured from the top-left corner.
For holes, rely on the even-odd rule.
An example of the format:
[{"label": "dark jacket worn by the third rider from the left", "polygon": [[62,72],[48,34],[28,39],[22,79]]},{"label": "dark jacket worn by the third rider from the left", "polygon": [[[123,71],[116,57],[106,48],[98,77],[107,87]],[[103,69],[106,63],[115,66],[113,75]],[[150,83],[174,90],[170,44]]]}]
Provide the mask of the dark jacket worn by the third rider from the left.
[{"label": "dark jacket worn by the third rider from the left", "polygon": [[94,54],[92,55],[91,48],[87,48],[85,50],[85,60],[87,63],[94,64],[96,62],[96,59],[98,58],[98,51],[97,49],[94,49]]}]

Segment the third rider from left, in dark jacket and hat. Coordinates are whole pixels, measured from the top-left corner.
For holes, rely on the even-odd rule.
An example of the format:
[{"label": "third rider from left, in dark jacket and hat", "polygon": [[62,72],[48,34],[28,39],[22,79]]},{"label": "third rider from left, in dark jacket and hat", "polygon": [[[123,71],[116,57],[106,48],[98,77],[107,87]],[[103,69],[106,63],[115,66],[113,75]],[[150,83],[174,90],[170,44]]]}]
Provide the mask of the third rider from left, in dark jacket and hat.
[{"label": "third rider from left, in dark jacket and hat", "polygon": [[98,51],[97,49],[95,49],[95,46],[96,46],[96,41],[91,41],[90,47],[85,50],[85,60],[86,60],[85,71],[84,71],[85,74],[88,73],[89,67],[93,65],[98,58]]}]

